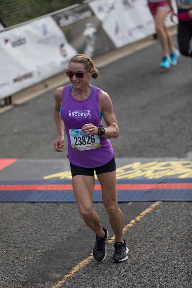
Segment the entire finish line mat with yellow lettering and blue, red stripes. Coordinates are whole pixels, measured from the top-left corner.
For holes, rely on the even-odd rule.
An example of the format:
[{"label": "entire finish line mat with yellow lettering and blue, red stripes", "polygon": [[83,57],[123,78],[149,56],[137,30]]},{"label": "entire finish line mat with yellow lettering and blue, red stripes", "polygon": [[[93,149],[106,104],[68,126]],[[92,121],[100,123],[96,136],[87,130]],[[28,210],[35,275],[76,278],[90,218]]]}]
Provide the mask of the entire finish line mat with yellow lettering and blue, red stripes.
[{"label": "entire finish line mat with yellow lettering and blue, red stripes", "polygon": [[[118,158],[116,164],[118,202],[192,201],[189,160]],[[0,169],[0,202],[75,202],[68,160],[0,159]],[[93,202],[102,202],[97,177]]]}]

